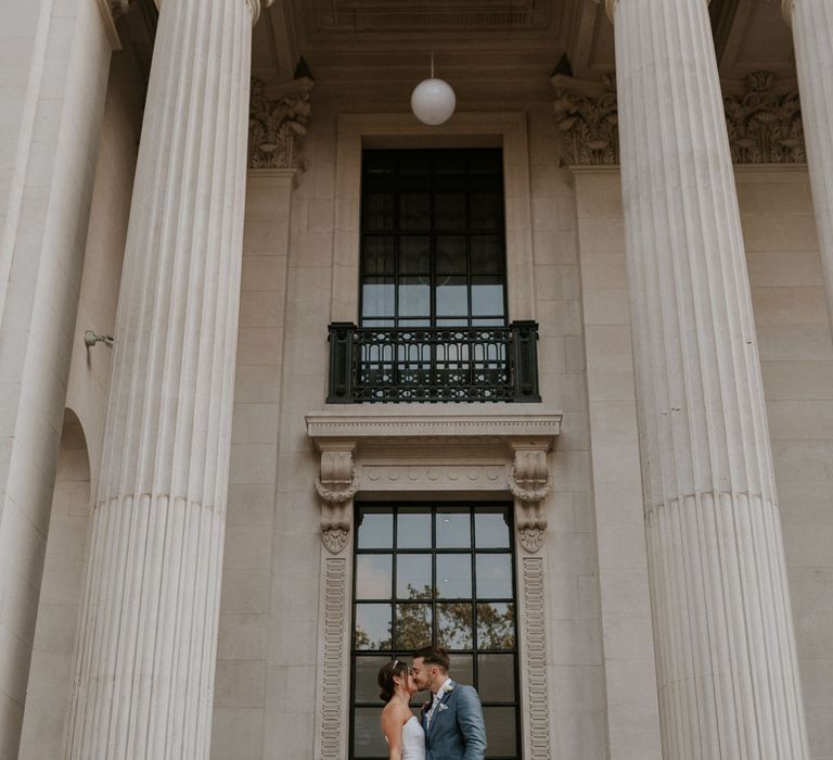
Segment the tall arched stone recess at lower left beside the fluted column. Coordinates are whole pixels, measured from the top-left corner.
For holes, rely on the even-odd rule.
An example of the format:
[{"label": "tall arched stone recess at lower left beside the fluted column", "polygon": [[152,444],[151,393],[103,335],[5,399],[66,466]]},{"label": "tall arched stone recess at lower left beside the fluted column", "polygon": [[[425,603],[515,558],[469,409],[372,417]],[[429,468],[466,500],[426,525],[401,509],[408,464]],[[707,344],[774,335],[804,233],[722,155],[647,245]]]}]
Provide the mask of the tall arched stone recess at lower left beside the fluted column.
[{"label": "tall arched stone recess at lower left beside the fluted column", "polygon": [[87,568],[90,458],[78,416],[64,409],[47,534],[20,760],[62,757]]}]

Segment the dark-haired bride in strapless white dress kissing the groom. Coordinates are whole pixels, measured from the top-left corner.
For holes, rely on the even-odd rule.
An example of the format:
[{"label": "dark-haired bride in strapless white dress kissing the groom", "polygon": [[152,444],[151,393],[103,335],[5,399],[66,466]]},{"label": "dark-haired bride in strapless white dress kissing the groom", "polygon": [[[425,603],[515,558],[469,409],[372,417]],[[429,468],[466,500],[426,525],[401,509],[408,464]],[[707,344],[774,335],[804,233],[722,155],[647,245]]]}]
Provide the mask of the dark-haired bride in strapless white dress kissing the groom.
[{"label": "dark-haired bride in strapless white dress kissing the groom", "polygon": [[382,731],[390,748],[389,760],[425,760],[425,732],[410,708],[418,689],[408,666],[399,660],[388,662],[379,671],[379,696],[387,702],[382,710]]}]

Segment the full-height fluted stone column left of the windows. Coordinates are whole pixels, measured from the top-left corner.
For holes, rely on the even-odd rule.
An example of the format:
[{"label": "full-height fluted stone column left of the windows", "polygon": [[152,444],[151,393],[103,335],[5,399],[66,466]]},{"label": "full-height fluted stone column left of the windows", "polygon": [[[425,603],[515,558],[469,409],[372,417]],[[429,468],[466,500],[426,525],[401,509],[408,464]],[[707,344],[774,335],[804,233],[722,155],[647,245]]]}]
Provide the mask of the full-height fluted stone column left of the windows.
[{"label": "full-height fluted stone column left of the windows", "polygon": [[163,3],[67,755],[207,758],[256,0]]}]

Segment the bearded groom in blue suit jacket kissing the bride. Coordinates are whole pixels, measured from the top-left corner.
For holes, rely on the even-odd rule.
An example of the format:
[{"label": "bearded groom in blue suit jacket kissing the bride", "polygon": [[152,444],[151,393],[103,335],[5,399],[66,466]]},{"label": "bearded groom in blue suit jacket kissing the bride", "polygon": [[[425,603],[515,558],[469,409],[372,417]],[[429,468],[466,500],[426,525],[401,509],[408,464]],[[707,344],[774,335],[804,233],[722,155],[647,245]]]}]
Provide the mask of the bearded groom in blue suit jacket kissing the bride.
[{"label": "bearded groom in blue suit jacket kissing the bride", "polygon": [[486,727],[477,692],[448,677],[449,658],[443,649],[425,647],[413,655],[413,680],[433,698],[422,708],[427,760],[483,760]]}]

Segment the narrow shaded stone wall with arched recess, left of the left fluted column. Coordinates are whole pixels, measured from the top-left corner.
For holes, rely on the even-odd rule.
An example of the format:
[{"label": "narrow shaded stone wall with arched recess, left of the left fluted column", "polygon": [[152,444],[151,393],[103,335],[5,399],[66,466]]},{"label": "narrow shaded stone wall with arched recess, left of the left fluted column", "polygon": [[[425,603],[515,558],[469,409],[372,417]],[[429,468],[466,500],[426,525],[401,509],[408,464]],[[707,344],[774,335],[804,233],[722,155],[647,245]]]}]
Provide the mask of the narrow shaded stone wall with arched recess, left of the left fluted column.
[{"label": "narrow shaded stone wall with arched recess, left of the left fluted column", "polygon": [[113,350],[87,349],[85,330],[113,334],[141,127],[142,83],[130,58],[111,64],[72,344],[64,433],[49,519],[20,758],[61,756],[89,545],[91,473],[101,459]]}]

